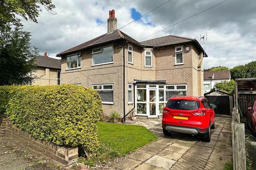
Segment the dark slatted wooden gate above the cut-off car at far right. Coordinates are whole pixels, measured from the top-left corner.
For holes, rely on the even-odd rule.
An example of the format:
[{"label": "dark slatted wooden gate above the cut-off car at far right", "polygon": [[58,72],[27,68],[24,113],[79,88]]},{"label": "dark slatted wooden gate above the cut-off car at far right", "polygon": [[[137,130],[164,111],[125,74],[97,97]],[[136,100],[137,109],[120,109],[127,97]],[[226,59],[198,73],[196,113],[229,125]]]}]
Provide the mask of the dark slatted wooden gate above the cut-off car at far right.
[{"label": "dark slatted wooden gate above the cut-off car at far right", "polygon": [[256,98],[256,94],[239,94],[238,95],[238,106],[241,109],[243,116],[246,116],[248,104]]}]

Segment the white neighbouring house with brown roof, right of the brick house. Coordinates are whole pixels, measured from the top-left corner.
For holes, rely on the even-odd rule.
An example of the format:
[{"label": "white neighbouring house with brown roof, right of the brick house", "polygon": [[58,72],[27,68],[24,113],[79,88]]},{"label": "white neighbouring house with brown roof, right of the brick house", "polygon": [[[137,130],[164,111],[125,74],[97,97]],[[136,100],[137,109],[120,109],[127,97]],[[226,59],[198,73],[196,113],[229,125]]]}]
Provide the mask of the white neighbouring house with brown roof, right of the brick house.
[{"label": "white neighbouring house with brown roof, right of the brick house", "polygon": [[205,71],[204,72],[204,93],[213,89],[219,82],[230,81],[230,70],[226,71]]}]

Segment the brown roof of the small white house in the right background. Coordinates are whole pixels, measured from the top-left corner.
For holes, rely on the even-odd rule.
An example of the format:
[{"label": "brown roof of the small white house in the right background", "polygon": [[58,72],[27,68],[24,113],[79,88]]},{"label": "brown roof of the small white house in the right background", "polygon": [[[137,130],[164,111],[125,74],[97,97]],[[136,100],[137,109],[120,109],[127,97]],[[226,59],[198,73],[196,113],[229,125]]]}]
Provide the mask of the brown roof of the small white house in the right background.
[{"label": "brown roof of the small white house in the right background", "polygon": [[[214,78],[212,79],[213,74],[214,74]],[[230,79],[230,70],[204,72],[204,80],[222,80],[222,79]]]}]

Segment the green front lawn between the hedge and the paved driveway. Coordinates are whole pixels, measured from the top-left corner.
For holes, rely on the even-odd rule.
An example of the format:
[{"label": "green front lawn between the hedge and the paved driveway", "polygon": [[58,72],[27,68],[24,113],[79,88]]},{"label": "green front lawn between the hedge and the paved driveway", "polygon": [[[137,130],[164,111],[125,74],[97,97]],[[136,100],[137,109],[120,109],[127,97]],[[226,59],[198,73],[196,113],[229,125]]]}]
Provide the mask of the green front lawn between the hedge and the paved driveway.
[{"label": "green front lawn between the hedge and the paved driveway", "polygon": [[108,122],[97,123],[97,134],[100,141],[99,155],[90,160],[80,158],[78,162],[89,166],[105,164],[158,139],[144,126]]}]

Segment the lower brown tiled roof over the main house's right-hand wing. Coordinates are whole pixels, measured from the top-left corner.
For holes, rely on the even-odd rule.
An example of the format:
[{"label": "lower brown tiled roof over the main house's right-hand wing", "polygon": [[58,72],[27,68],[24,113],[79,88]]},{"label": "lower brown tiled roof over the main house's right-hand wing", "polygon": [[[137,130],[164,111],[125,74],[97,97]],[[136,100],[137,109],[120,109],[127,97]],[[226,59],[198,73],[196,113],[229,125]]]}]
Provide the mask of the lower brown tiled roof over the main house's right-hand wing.
[{"label": "lower brown tiled roof over the main house's right-hand wing", "polygon": [[196,39],[169,35],[169,36],[149,39],[146,41],[142,41],[140,43],[145,46],[165,46],[165,45],[179,44],[179,43],[185,43],[185,42],[195,41],[195,40]]}]

